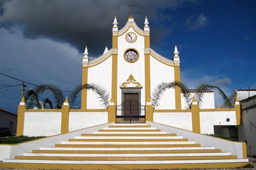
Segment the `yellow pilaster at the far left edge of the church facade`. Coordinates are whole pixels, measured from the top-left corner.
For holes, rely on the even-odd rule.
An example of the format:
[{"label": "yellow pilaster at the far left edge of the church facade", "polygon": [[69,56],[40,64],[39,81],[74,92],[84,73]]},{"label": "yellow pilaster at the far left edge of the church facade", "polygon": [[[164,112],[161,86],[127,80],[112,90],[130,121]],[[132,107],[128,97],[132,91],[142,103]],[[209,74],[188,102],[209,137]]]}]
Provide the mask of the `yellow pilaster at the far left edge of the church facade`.
[{"label": "yellow pilaster at the far left edge of the church facade", "polygon": [[[88,68],[82,68],[82,84],[88,83]],[[81,109],[87,108],[87,89],[82,90],[81,95]]]}]

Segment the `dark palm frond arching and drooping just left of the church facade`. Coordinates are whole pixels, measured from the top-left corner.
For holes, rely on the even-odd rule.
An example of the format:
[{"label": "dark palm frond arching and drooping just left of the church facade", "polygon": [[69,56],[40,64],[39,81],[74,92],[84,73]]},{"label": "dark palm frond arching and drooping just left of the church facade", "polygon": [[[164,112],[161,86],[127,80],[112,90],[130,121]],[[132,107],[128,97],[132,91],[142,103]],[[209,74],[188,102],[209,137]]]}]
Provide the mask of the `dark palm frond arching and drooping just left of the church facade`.
[{"label": "dark palm frond arching and drooping just left of the church facade", "polygon": [[65,101],[62,90],[53,84],[41,84],[41,86],[38,86],[35,89],[37,94],[43,94],[45,90],[50,90],[52,92],[53,97],[55,98],[56,107],[57,109],[60,109]]}]

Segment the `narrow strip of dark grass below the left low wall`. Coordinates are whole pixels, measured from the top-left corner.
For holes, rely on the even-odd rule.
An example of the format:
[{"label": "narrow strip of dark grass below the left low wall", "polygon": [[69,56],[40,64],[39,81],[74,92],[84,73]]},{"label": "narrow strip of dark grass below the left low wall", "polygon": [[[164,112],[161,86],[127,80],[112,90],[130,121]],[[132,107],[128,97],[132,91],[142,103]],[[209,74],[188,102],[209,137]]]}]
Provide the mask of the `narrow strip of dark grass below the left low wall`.
[{"label": "narrow strip of dark grass below the left low wall", "polygon": [[22,143],[24,141],[35,140],[35,139],[39,139],[39,138],[44,138],[44,136],[37,136],[37,137],[27,137],[27,136],[3,137],[3,138],[0,138],[0,144],[18,144],[18,143]]}]

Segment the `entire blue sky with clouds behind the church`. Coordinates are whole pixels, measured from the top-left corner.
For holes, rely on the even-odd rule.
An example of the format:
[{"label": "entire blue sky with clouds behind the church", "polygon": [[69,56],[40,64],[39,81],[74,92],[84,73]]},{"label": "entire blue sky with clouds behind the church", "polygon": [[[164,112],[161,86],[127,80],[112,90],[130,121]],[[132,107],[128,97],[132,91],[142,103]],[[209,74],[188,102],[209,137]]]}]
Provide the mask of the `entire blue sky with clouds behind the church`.
[{"label": "entire blue sky with clouds behind the church", "polygon": [[[0,0],[0,73],[71,90],[81,82],[85,45],[92,58],[111,48],[113,18],[122,28],[130,3],[139,27],[149,19],[151,48],[172,59],[178,45],[181,81],[190,88],[210,83],[227,95],[256,88],[256,1],[244,0]],[[20,83],[0,75],[1,85]],[[17,112],[21,87],[3,87],[0,107]],[[216,95],[215,103],[221,102]]]}]

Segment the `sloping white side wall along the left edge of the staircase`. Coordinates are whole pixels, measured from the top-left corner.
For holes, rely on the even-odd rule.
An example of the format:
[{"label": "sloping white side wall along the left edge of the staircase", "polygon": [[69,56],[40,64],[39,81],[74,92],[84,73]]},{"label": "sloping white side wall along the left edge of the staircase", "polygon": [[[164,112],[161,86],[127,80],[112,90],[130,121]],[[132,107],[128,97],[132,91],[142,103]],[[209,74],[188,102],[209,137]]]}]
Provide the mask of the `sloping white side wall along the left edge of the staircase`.
[{"label": "sloping white side wall along the left edge of the staircase", "polygon": [[52,137],[32,140],[17,145],[0,145],[0,161],[3,159],[14,159],[16,155],[23,155],[23,153],[30,153],[32,150],[38,150],[40,147],[54,147],[55,144],[60,144],[62,141],[68,141],[75,136],[80,136],[82,133],[92,133],[99,129],[107,128],[113,123],[106,123],[102,125],[92,126],[65,134],[58,134]]}]

